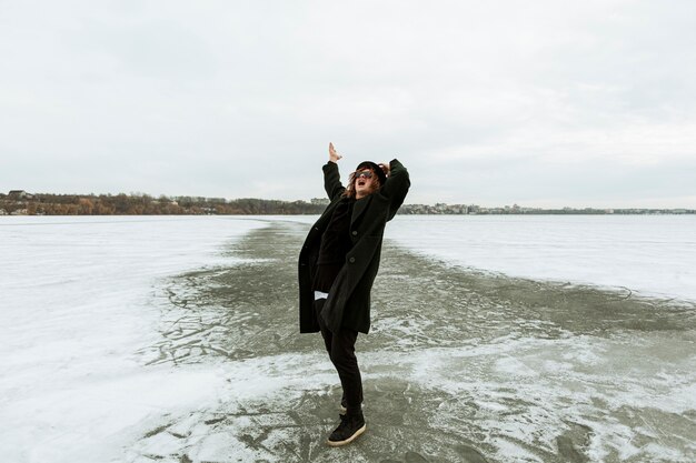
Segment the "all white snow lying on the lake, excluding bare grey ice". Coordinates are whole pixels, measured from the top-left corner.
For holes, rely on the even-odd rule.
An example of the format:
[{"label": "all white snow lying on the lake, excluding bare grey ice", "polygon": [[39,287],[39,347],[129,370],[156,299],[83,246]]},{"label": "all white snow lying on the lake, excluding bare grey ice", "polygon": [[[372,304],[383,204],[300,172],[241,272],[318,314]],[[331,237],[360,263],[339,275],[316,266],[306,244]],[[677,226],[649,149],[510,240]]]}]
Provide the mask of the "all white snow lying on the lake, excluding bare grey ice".
[{"label": "all white snow lying on the lake, excluding bare grey ice", "polygon": [[[332,393],[335,372],[318,340],[309,353],[258,352],[241,361],[211,358],[181,365],[147,365],[149,353],[143,348],[161,339],[161,301],[153,295],[162,291],[163,280],[249,263],[233,253],[235,243],[248,232],[315,219],[1,219],[4,460],[145,462],[151,461],[150,454],[159,459],[186,451],[196,462],[285,461],[268,449],[246,445],[239,433],[228,431],[253,433],[262,420],[287,420],[281,414],[235,415],[260,399],[282,410],[289,401]],[[388,225],[386,238],[448,265],[696,299],[694,219],[401,215]],[[297,228],[287,232],[296,233]],[[264,300],[259,294],[259,304]],[[402,330],[404,340],[415,338],[415,330],[429,333],[427,326],[390,324],[388,319],[375,323],[374,334],[380,330]],[[411,400],[440,403],[430,426],[438,421],[444,429],[461,423],[463,409],[455,405],[476,410],[475,419],[466,416],[465,422],[471,435],[490,435],[488,444],[497,449],[493,454],[500,461],[509,452],[538,461],[521,443],[535,442],[548,451],[555,447],[557,433],[570,424],[591,429],[586,432],[587,453],[596,461],[640,457],[648,450],[650,455],[675,460],[689,450],[693,454],[688,444],[675,444],[682,437],[663,436],[664,445],[659,439],[643,446],[636,443],[652,435],[664,416],[676,420],[696,410],[688,331],[617,331],[601,336],[565,332],[548,339],[510,334],[487,341],[475,336],[455,348],[437,348],[437,340],[432,345],[394,349],[388,355],[379,350],[360,352],[369,392],[398,391],[406,383],[399,394],[409,405]],[[302,365],[312,365],[311,378]],[[429,402],[443,396],[457,400]],[[398,394],[381,395],[388,397],[396,397],[394,405],[400,403]],[[655,416],[634,416],[636,410]],[[209,425],[216,414],[222,415],[220,420],[235,415],[235,421],[228,427]],[[626,424],[636,422],[640,429]],[[381,423],[382,429],[388,425]],[[665,425],[669,430],[675,424]],[[155,432],[159,426],[169,426],[168,432]],[[318,432],[326,432],[322,426],[317,424]],[[289,435],[299,441],[292,433],[305,425],[286,427],[271,430],[268,439],[281,442]],[[428,429],[422,432],[424,439],[432,439]]]}]

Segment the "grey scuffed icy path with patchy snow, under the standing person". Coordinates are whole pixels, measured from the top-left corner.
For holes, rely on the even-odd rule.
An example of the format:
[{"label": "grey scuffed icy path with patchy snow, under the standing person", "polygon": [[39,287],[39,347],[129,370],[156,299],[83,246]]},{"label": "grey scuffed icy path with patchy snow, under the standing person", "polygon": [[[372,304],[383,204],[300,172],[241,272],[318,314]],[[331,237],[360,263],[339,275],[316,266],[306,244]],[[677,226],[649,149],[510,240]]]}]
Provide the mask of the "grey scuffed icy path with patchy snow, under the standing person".
[{"label": "grey scuffed icy path with patchy snow, under the standing person", "polygon": [[297,334],[306,224],[275,222],[232,269],[161,291],[153,365],[215,364],[216,404],[147,422],[130,462],[686,462],[696,311],[628,292],[461,272],[387,243],[358,341],[368,432],[324,443],[340,390]]}]

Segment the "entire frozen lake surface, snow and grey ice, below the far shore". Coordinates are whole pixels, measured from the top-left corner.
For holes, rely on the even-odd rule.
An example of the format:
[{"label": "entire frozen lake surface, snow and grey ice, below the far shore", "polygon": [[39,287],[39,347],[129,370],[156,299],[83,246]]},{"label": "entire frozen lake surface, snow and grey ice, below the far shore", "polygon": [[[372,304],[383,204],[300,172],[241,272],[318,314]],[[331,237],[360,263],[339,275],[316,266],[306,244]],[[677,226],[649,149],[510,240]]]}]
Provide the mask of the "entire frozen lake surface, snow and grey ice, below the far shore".
[{"label": "entire frozen lake surface, snow and grey ice, below the far shore", "polygon": [[[694,217],[397,217],[368,432],[297,334],[314,218],[0,219],[12,462],[687,462]],[[337,453],[338,452],[338,453]]]}]

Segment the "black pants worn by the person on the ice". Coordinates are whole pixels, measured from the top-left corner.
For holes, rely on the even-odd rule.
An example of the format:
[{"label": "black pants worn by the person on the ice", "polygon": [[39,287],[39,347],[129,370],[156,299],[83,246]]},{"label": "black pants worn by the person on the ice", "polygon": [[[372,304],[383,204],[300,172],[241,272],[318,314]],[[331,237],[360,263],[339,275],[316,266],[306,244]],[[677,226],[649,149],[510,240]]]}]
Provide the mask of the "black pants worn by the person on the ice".
[{"label": "black pants worn by the person on the ice", "polygon": [[317,312],[324,344],[344,387],[348,414],[357,414],[361,412],[362,406],[362,378],[358,368],[358,359],[356,359],[358,332],[344,329],[338,332],[329,331],[320,316],[325,302],[326,299],[315,301],[315,311]]}]

